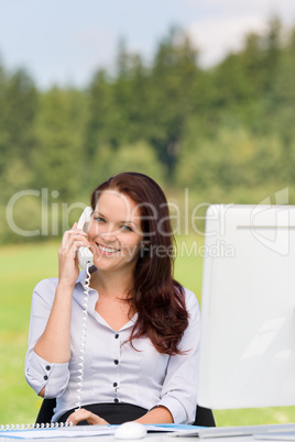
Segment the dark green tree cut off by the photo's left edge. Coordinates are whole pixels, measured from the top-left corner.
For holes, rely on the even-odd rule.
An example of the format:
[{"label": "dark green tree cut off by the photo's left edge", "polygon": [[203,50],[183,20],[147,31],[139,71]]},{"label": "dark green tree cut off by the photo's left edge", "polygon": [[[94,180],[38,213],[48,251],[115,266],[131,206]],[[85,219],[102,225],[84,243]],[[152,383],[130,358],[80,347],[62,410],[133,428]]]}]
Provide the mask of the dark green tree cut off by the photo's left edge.
[{"label": "dark green tree cut off by the photo's left edge", "polygon": [[0,67],[0,202],[29,186],[36,148],[37,91],[23,70],[9,76]]}]

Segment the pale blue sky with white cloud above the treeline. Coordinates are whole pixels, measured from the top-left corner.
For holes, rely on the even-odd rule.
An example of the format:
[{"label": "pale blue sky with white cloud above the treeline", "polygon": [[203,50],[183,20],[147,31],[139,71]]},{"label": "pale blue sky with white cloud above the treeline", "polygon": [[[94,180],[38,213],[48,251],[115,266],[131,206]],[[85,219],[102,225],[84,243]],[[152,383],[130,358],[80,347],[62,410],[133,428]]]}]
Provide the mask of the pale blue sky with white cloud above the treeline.
[{"label": "pale blue sky with white cloud above the treeline", "polygon": [[43,89],[86,87],[113,67],[120,40],[149,62],[178,25],[209,67],[274,14],[294,27],[295,0],[0,0],[0,64],[25,68]]}]

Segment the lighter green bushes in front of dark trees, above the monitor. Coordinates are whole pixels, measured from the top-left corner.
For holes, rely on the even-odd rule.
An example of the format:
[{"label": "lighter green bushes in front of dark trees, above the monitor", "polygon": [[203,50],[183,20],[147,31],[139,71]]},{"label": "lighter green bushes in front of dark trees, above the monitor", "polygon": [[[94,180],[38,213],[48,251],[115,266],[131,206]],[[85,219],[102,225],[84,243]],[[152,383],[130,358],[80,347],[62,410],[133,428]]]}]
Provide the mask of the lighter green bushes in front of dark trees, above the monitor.
[{"label": "lighter green bushes in front of dark trees, above the monitor", "polygon": [[221,128],[214,139],[198,139],[188,128],[177,164],[178,183],[184,187],[208,189],[217,183],[222,189],[255,188],[276,181],[287,185],[285,148],[278,136],[254,136],[244,128]]}]

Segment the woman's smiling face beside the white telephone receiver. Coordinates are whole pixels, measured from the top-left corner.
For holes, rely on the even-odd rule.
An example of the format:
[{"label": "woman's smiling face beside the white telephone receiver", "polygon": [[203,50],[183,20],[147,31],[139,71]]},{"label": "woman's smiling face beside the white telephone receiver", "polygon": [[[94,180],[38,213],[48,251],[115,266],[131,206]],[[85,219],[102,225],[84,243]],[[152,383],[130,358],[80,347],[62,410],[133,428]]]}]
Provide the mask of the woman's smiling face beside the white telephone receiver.
[{"label": "woman's smiling face beside the white telephone receiver", "polygon": [[143,232],[136,203],[117,190],[105,190],[88,230],[94,264],[101,270],[130,270],[138,261]]}]

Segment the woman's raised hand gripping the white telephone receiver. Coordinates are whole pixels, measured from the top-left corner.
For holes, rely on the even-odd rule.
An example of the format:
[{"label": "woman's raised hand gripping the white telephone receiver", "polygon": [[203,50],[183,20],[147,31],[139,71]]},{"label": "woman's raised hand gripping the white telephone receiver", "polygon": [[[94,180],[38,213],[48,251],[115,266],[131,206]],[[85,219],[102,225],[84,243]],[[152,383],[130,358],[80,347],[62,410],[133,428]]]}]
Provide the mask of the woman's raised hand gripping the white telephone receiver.
[{"label": "woman's raised hand gripping the white telephone receiver", "polygon": [[58,251],[58,281],[74,287],[79,275],[77,251],[79,247],[89,247],[87,233],[77,229],[77,223],[64,233]]}]

